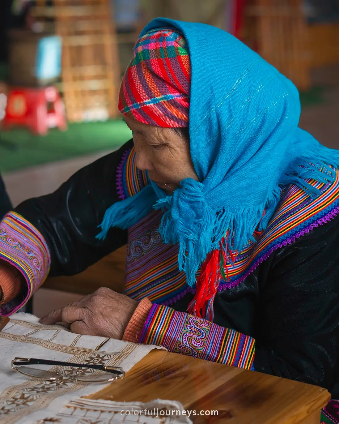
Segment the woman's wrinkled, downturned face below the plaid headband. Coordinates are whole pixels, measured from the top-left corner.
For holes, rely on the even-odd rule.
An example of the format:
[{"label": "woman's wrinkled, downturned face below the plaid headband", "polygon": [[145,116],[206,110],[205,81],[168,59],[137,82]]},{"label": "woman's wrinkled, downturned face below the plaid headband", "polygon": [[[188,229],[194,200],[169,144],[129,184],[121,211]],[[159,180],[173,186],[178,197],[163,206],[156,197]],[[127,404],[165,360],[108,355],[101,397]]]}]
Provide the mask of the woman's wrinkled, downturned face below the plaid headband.
[{"label": "woman's wrinkled, downturned face below the plaid headband", "polygon": [[172,128],[153,127],[127,116],[125,121],[133,131],[136,167],[147,170],[150,179],[160,188],[172,193],[185,178],[198,181],[188,141]]}]

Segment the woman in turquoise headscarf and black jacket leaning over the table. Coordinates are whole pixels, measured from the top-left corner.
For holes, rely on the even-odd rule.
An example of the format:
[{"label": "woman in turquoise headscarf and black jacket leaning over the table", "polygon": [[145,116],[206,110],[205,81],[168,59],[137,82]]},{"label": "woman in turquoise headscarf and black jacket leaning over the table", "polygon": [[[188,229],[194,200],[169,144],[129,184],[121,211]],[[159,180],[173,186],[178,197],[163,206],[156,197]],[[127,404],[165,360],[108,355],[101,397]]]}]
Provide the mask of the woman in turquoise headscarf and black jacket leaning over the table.
[{"label": "woman in turquoise headscarf and black jacket leaning over the table", "polygon": [[133,141],[2,221],[1,258],[24,277],[2,314],[128,243],[124,294],[41,321],[338,396],[339,153],[297,127],[295,86],[224,31],[157,19],[119,110]]}]

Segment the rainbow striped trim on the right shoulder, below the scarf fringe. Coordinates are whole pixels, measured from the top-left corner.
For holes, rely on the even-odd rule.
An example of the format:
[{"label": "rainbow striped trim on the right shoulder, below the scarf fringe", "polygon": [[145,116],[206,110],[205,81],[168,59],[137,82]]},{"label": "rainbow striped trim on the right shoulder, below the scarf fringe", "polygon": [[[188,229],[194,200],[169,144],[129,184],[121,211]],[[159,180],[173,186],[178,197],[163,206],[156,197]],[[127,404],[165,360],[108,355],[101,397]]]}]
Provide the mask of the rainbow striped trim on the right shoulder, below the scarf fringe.
[{"label": "rainbow striped trim on the right shoulder, below the scarf fringe", "polygon": [[335,181],[331,183],[306,181],[320,190],[319,196],[311,199],[302,189],[290,185],[282,194],[281,203],[258,243],[250,243],[233,264],[227,263],[230,281],[221,280],[219,291],[239,285],[275,250],[295,242],[339,213],[338,170]]}]

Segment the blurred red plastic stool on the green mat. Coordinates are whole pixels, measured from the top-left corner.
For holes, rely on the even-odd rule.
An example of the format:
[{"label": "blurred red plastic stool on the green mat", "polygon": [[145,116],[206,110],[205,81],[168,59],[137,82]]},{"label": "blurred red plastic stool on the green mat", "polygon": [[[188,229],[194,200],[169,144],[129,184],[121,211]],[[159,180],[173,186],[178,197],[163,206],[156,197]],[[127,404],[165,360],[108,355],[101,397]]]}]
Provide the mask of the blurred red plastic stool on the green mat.
[{"label": "blurred red plastic stool on the green mat", "polygon": [[11,87],[8,92],[3,128],[28,126],[35,134],[46,135],[49,128],[67,130],[64,103],[55,87]]}]

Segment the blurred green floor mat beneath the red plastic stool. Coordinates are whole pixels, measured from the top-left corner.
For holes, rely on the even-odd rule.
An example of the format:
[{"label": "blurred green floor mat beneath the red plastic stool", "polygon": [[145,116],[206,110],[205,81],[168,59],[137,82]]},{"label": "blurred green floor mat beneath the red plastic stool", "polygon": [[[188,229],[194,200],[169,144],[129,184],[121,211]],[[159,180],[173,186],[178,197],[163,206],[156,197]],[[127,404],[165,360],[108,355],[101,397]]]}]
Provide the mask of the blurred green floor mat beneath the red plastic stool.
[{"label": "blurred green floor mat beneath the red plastic stool", "polygon": [[0,171],[9,172],[98,151],[114,150],[131,137],[131,131],[122,120],[72,123],[65,132],[53,128],[43,137],[31,134],[26,128],[1,131]]}]

